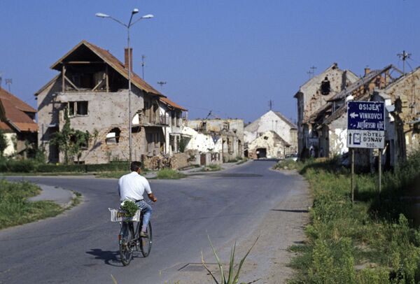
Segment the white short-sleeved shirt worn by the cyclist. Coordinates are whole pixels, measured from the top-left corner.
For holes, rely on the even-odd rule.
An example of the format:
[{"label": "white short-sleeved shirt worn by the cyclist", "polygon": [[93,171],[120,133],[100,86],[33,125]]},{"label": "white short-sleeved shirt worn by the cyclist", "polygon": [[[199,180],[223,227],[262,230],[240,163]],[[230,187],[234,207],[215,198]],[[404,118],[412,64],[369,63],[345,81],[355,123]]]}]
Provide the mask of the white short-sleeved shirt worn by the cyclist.
[{"label": "white short-sleeved shirt worn by the cyclist", "polygon": [[120,192],[120,201],[126,199],[141,200],[144,191],[152,193],[151,186],[144,176],[140,176],[136,171],[132,171],[118,180],[118,192]]}]

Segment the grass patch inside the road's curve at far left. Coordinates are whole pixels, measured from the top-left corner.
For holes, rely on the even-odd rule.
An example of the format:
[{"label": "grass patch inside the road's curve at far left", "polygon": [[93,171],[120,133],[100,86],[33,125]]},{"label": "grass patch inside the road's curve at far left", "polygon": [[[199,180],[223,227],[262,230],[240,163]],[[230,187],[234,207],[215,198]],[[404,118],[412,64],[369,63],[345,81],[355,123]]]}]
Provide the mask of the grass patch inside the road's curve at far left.
[{"label": "grass patch inside the road's curve at far left", "polygon": [[0,180],[0,229],[53,217],[64,209],[52,201],[28,201],[41,188],[25,181],[10,183]]}]

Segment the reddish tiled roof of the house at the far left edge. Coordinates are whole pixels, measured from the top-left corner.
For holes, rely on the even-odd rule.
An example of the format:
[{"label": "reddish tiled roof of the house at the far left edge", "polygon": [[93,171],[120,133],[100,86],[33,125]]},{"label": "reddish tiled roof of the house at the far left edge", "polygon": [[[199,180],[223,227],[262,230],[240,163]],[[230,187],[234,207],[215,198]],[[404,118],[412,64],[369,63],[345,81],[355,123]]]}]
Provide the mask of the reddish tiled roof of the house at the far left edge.
[{"label": "reddish tiled roof of the house at the far left edge", "polygon": [[[35,109],[25,104],[6,90],[0,89],[0,107],[3,110],[1,129],[15,128],[20,132],[36,132],[38,125],[25,113],[36,113]],[[11,127],[10,127],[11,126]]]}]

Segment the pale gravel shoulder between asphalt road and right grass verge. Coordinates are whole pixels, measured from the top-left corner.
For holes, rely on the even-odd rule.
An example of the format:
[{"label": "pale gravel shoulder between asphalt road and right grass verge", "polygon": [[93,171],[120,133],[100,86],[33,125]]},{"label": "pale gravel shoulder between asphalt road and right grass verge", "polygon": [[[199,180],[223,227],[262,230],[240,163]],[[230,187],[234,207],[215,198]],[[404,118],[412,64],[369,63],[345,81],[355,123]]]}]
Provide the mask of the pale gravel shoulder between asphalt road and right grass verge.
[{"label": "pale gravel shoulder between asphalt road and right grass verge", "polygon": [[[286,199],[269,209],[265,219],[253,232],[238,240],[235,252],[236,263],[239,263],[241,257],[259,236],[242,267],[240,282],[279,284],[286,283],[286,280],[293,276],[293,269],[288,267],[288,263],[294,253],[288,251],[288,248],[305,240],[304,226],[309,222],[307,209],[311,206],[311,196],[302,176],[295,171],[281,171],[281,173],[295,176],[298,183],[304,186],[291,190]],[[225,264],[225,271],[228,270],[230,249],[230,247],[221,248],[218,253]],[[209,255],[204,259],[209,263],[209,268],[214,271],[216,278],[220,279],[214,256]],[[168,283],[175,281],[188,284],[214,283],[201,264],[195,264],[191,269],[181,269],[172,278],[172,282]]]}]

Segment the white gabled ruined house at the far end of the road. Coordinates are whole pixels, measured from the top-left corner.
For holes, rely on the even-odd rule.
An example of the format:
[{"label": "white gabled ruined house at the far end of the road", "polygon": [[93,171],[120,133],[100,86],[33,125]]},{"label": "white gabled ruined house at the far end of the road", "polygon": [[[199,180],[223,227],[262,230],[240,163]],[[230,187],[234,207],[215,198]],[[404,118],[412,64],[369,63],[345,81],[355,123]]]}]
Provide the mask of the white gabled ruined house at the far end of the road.
[{"label": "white gabled ruined house at the far end of the road", "polygon": [[297,152],[297,126],[278,111],[268,111],[244,129],[245,155],[279,158]]}]

